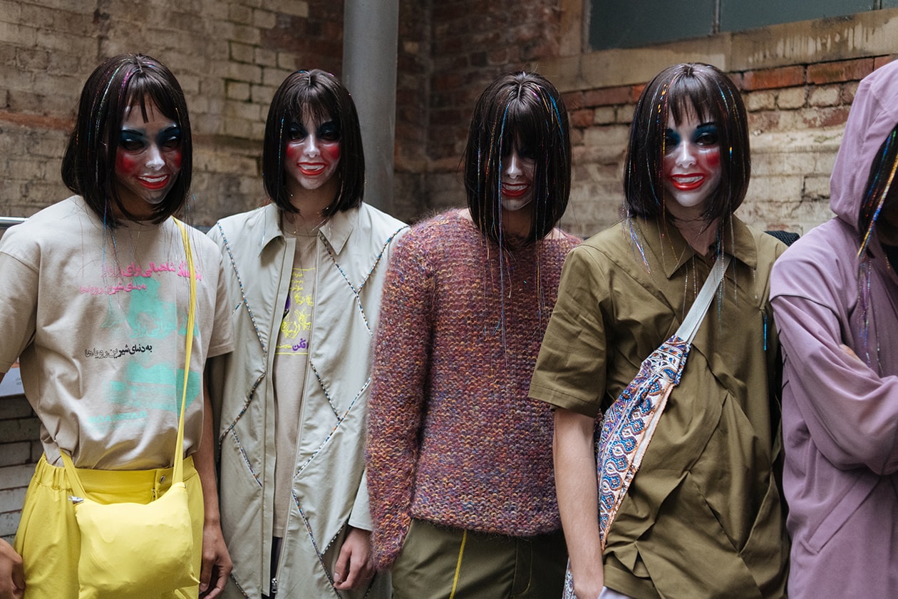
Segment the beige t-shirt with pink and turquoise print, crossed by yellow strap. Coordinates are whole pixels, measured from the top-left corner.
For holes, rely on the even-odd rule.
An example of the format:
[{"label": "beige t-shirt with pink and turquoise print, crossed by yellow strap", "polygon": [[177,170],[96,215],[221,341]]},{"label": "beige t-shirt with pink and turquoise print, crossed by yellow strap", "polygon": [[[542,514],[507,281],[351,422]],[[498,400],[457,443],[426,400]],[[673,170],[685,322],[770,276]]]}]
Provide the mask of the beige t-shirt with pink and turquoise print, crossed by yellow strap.
[{"label": "beige t-shirt with pink and turquoise print, crossed by yellow strap", "polygon": [[[197,311],[184,454],[202,432],[206,357],[233,349],[215,243],[188,227]],[[47,459],[79,468],[172,463],[184,381],[189,274],[180,229],[104,227],[79,197],[41,210],[0,242],[0,372],[21,355]]]}]

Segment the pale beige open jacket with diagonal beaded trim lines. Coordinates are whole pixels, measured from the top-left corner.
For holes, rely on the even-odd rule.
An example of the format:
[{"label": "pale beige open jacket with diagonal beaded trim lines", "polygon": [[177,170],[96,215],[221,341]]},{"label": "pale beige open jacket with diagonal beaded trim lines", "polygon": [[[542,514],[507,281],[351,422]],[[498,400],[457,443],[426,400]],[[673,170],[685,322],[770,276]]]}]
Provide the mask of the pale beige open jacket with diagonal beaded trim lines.
[{"label": "pale beige open jacket with diagonal beaded trim lines", "polygon": [[[364,482],[369,348],[393,243],[406,229],[374,207],[339,212],[317,240],[315,315],[287,531],[282,597],[352,597],[331,582],[347,524],[371,530]],[[210,361],[222,529],[233,559],[225,596],[270,593],[275,471],[271,372],[293,267],[275,205],[229,216],[209,231],[222,249],[236,349]],[[369,597],[389,596],[383,589]]]}]

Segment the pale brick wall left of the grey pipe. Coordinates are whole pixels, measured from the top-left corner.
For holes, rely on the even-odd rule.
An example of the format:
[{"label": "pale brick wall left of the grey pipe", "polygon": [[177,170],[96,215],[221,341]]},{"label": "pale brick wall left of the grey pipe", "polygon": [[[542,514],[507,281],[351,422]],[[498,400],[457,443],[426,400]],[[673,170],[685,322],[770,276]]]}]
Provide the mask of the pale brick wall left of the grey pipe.
[{"label": "pale brick wall left of the grey pipe", "polygon": [[0,214],[68,195],[59,163],[78,94],[102,58],[128,51],[170,66],[187,96],[189,220],[258,205],[271,96],[301,66],[339,73],[341,23],[342,3],[328,0],[0,0]]}]

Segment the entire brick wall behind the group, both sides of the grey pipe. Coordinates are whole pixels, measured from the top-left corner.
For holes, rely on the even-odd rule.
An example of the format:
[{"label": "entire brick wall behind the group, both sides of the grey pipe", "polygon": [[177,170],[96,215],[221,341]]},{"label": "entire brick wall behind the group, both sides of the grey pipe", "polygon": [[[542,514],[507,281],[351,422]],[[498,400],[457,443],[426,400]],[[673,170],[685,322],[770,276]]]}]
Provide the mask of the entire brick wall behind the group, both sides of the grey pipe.
[{"label": "entire brick wall behind the group, both sides of the grey pipe", "polygon": [[[565,92],[576,128],[572,198],[562,224],[588,235],[616,220],[633,92],[652,73],[629,81],[628,71],[639,69],[615,62],[616,55],[606,60],[602,53],[579,53],[570,40],[578,31],[577,4],[401,0],[397,216],[415,220],[463,203],[458,166],[474,101],[495,75],[535,69]],[[270,97],[298,67],[339,75],[342,10],[332,0],[0,0],[0,214],[28,216],[67,195],[58,165],[84,78],[102,57],[135,49],[172,66],[188,96],[196,136],[188,219],[211,225],[258,205]],[[791,64],[727,68],[716,48],[661,49],[654,60],[659,68],[704,59],[742,85],[755,168],[741,214],[757,225],[799,232],[828,217],[826,179],[852,86],[885,52],[861,51],[864,56],[844,60],[830,52],[823,62],[812,52]],[[566,53],[578,57],[574,75],[559,66]],[[599,59],[591,65],[594,56]],[[625,84],[592,84],[615,78]]]}]

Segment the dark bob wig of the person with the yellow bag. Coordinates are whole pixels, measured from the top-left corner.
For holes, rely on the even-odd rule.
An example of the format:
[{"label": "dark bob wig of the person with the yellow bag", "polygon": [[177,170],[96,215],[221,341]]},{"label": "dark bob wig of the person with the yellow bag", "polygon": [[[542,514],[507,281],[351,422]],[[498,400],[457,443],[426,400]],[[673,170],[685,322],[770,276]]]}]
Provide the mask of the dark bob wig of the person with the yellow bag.
[{"label": "dark bob wig of the person with the yellow bag", "polygon": [[179,212],[189,198],[193,144],[187,101],[178,80],[153,57],[121,54],[97,66],[81,92],[75,128],[63,156],[62,180],[111,228],[122,224],[115,210],[136,220],[116,189],[115,158],[125,110],[139,106],[146,118],[152,105],[178,125],[181,135],[178,178],[153,209],[152,220],[158,224]]}]

